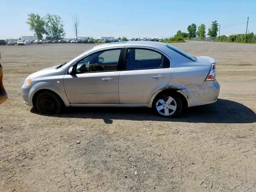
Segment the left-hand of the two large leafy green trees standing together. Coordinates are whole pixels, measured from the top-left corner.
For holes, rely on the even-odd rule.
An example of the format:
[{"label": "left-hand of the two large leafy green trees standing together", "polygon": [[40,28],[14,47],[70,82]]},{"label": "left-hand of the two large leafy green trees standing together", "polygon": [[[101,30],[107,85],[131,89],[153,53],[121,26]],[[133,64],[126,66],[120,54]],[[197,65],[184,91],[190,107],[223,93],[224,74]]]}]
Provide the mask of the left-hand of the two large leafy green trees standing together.
[{"label": "left-hand of the two large leafy green trees standing together", "polygon": [[30,13],[28,14],[26,24],[29,24],[30,30],[35,32],[34,35],[36,35],[38,39],[43,38],[43,34],[45,33],[43,18],[41,18],[38,14]]}]

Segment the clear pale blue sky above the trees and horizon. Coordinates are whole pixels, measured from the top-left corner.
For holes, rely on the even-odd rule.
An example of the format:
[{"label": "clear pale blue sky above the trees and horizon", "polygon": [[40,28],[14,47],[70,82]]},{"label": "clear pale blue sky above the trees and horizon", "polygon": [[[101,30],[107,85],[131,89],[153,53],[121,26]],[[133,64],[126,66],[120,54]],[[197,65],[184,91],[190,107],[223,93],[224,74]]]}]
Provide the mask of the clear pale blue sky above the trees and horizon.
[{"label": "clear pale blue sky above the trees and horizon", "polygon": [[[256,0],[0,0],[0,39],[33,35],[26,24],[29,13],[58,14],[64,21],[67,38],[74,38],[72,16],[80,17],[79,35],[116,37],[167,37],[188,25],[213,20],[221,24],[220,34],[245,33],[247,17],[256,21]],[[246,22],[244,20],[243,22]],[[256,22],[249,22],[256,33]]]}]

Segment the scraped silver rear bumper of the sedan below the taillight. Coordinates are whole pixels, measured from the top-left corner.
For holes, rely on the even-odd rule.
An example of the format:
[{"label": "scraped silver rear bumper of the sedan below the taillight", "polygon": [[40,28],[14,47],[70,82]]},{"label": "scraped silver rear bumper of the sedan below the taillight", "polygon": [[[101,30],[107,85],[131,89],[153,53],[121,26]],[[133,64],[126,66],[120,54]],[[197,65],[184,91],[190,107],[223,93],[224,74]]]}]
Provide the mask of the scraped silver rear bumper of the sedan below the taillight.
[{"label": "scraped silver rear bumper of the sedan below the taillight", "polygon": [[220,84],[216,80],[205,81],[202,85],[179,90],[186,97],[188,107],[214,103],[220,94]]}]

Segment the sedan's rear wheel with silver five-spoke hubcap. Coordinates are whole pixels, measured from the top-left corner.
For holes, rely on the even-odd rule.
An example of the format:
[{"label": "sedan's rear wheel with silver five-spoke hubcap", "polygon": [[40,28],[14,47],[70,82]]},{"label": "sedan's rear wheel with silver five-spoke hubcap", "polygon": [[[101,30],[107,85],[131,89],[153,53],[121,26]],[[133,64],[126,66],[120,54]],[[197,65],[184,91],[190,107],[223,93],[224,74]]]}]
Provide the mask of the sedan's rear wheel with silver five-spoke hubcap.
[{"label": "sedan's rear wheel with silver five-spoke hubcap", "polygon": [[[169,97],[171,97],[170,99],[173,99],[170,102],[170,104],[167,102]],[[162,104],[161,102],[158,102],[159,100],[164,100],[164,103]],[[176,106],[176,109],[175,110],[170,109],[170,105]],[[158,111],[157,107],[162,108],[162,106],[164,108],[162,110]],[[183,108],[183,103],[182,103],[182,100],[180,99],[180,97],[177,94],[175,94],[175,92],[169,92],[169,93],[163,93],[163,94],[156,96],[156,98],[154,99],[154,101],[152,103],[152,108],[158,116],[174,118],[174,117],[178,117],[181,114],[182,108]],[[163,114],[163,113],[165,113],[166,110],[168,110],[169,115]]]}]

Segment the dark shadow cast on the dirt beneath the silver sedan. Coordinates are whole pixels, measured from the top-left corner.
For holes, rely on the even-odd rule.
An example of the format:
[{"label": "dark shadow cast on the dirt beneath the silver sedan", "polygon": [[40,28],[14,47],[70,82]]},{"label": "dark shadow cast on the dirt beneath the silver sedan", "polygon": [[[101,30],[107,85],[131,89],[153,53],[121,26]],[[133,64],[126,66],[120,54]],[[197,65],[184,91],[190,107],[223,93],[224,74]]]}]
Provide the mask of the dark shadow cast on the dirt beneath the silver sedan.
[{"label": "dark shadow cast on the dirt beneath the silver sedan", "polygon": [[[32,113],[40,114],[35,108]],[[250,108],[238,102],[218,99],[213,104],[188,108],[178,118],[163,118],[156,116],[150,108],[119,108],[119,107],[82,107],[66,108],[62,114],[45,115],[59,118],[92,118],[103,119],[106,124],[113,120],[135,121],[168,121],[168,122],[193,122],[193,123],[254,123],[256,114]]]}]

